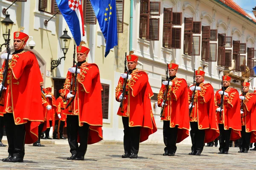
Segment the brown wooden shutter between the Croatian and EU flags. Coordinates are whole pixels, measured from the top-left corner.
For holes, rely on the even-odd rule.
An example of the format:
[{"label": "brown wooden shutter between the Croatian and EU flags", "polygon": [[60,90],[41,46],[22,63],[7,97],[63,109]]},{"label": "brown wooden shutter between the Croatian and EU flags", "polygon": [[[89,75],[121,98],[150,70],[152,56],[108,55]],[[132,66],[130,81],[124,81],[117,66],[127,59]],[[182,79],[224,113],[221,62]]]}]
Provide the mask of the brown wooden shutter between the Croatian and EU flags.
[{"label": "brown wooden shutter between the Croatian and EU flags", "polygon": [[96,24],[96,16],[90,0],[84,0],[84,24]]}]

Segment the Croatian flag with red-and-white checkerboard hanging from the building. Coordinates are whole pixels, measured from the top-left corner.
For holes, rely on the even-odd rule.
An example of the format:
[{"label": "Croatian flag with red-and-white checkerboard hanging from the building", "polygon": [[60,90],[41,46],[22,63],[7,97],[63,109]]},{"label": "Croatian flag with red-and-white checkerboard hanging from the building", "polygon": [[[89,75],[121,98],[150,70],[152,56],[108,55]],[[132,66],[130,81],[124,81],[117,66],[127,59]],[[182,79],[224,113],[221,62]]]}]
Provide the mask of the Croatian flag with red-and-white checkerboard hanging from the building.
[{"label": "Croatian flag with red-and-white checkerboard hanging from the building", "polygon": [[59,10],[79,45],[84,36],[84,17],[81,0],[56,0]]}]

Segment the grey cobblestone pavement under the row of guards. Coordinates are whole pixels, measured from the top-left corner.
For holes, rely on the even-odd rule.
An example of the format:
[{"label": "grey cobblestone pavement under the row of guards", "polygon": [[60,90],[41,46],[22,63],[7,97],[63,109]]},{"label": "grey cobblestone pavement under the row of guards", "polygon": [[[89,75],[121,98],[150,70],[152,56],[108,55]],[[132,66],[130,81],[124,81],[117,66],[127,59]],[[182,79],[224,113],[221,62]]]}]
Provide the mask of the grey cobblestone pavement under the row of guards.
[{"label": "grey cobblestone pavement under the row of guards", "polygon": [[[67,141],[67,140],[66,140]],[[6,143],[6,142],[4,142]],[[256,151],[237,153],[231,147],[228,155],[218,154],[218,147],[204,147],[201,156],[189,156],[189,145],[178,144],[175,156],[162,156],[163,144],[140,144],[138,159],[121,158],[122,144],[88,145],[84,161],[68,161],[69,146],[46,144],[45,147],[25,146],[23,163],[0,162],[0,169],[88,169],[88,170],[248,170],[256,169]],[[0,147],[0,158],[8,156],[8,147]]]}]

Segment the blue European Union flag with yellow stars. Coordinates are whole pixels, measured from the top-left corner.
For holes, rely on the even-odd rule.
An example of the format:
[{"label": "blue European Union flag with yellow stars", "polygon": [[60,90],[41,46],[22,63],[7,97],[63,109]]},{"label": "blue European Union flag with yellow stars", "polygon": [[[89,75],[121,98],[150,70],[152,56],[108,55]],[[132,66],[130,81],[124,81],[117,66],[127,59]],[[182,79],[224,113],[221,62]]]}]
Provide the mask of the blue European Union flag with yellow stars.
[{"label": "blue European Union flag with yellow stars", "polygon": [[116,0],[90,0],[106,40],[105,57],[117,45]]}]

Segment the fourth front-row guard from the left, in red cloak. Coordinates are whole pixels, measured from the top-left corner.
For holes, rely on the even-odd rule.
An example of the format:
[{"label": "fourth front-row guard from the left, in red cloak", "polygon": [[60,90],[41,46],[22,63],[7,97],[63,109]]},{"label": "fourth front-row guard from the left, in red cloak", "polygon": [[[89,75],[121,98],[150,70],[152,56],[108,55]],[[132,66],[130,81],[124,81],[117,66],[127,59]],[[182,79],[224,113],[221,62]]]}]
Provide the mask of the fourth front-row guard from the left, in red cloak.
[{"label": "fourth front-row guard from the left, in red cloak", "polygon": [[[163,81],[157,95],[158,107],[163,108],[161,120],[163,120],[163,142],[166,145],[163,156],[174,156],[179,143],[189,136],[189,104],[188,85],[185,79],[177,78],[179,65],[168,64],[169,88],[166,94],[168,80]],[[167,95],[167,97],[166,97]],[[166,104],[164,105],[164,100]]]}]

